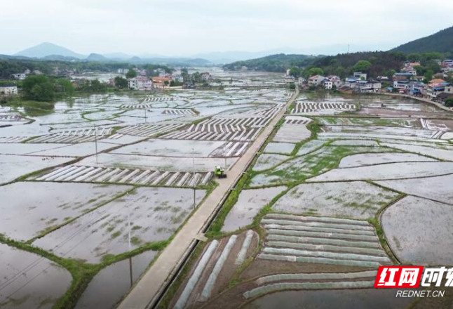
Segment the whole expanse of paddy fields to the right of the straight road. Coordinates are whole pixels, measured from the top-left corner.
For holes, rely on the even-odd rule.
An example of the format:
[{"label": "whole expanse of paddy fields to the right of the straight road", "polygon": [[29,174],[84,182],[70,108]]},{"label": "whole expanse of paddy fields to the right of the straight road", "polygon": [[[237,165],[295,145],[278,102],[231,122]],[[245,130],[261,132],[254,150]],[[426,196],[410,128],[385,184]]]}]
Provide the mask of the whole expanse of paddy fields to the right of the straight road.
[{"label": "whole expanse of paddy fields to the right of the straight road", "polygon": [[[214,286],[227,277],[231,287],[190,299],[208,298],[203,308],[407,308],[413,299],[371,288],[378,265],[453,266],[452,115],[400,97],[301,94],[227,199],[191,284],[203,285],[194,274],[210,271],[203,258],[219,235],[229,242],[250,228],[258,249],[240,274],[219,265]],[[316,136],[285,130],[295,117],[311,119]]]}]

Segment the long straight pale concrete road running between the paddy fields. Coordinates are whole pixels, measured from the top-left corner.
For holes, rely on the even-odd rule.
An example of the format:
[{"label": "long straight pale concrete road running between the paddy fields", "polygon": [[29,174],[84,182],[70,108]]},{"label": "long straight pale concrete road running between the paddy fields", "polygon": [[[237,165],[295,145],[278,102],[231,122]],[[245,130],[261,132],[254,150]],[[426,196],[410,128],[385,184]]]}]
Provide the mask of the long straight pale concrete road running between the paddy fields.
[{"label": "long straight pale concrete road running between the paddy fields", "polygon": [[[271,135],[274,126],[283,118],[288,107],[294,102],[299,95],[299,89],[291,96],[286,105],[276,114],[275,117],[259,133],[257,139],[248,147],[244,155],[238,159],[236,164],[227,172],[228,178],[217,179],[219,185],[198,206],[195,213],[189,218],[187,223],[177,232],[173,240],[154,261],[151,268],[142,276],[139,282],[135,284],[132,291],[120,303],[119,309],[145,309],[152,308],[155,305],[158,296],[163,293],[168,280],[175,275],[178,265],[189,254],[194,241],[200,238],[200,234],[205,228],[206,223],[215,215],[218,206],[224,202],[224,197],[243,172],[248,169],[258,150],[262,147],[266,139]],[[213,168],[213,166],[212,166]]]}]

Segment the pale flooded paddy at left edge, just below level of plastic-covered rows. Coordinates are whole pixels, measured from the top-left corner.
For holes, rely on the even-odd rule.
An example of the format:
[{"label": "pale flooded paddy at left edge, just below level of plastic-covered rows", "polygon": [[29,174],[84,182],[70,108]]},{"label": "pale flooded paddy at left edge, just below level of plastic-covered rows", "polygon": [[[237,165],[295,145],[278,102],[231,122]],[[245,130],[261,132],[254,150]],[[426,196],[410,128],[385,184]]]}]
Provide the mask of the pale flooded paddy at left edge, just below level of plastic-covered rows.
[{"label": "pale flooded paddy at left edge, just below level of plastic-covered rows", "polygon": [[0,186],[0,233],[27,241],[130,189],[126,185],[89,183],[21,182]]}]

